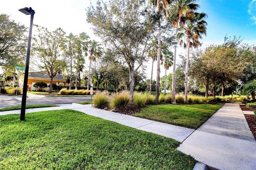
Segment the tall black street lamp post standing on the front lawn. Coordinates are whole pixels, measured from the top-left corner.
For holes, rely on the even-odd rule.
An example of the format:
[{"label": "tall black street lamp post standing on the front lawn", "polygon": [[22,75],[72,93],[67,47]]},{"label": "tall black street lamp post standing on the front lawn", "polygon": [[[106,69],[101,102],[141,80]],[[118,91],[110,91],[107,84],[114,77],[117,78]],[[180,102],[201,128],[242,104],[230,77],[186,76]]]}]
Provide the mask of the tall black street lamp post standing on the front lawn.
[{"label": "tall black street lamp post standing on the front lawn", "polygon": [[28,7],[21,8],[19,11],[22,12],[23,14],[30,15],[28,48],[27,48],[26,67],[25,67],[25,75],[24,75],[24,81],[23,81],[23,92],[22,92],[21,111],[20,111],[20,120],[21,121],[25,121],[27,86],[28,86],[29,57],[30,57],[32,27],[33,27],[33,19],[34,19],[35,11],[31,7],[29,7],[29,8]]}]

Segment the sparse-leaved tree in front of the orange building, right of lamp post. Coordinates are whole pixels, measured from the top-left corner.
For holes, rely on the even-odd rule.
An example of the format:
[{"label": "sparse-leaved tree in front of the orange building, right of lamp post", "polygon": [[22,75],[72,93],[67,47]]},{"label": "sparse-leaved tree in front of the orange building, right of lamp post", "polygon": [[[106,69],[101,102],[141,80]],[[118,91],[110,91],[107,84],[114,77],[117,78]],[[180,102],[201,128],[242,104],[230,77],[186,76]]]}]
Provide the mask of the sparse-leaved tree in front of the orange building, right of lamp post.
[{"label": "sparse-leaved tree in front of the orange building, right of lamp post", "polygon": [[66,33],[61,28],[52,32],[43,27],[36,26],[36,28],[37,35],[33,45],[35,62],[39,69],[45,70],[49,75],[51,79],[49,93],[51,93],[53,78],[66,66],[65,56],[62,53]]}]

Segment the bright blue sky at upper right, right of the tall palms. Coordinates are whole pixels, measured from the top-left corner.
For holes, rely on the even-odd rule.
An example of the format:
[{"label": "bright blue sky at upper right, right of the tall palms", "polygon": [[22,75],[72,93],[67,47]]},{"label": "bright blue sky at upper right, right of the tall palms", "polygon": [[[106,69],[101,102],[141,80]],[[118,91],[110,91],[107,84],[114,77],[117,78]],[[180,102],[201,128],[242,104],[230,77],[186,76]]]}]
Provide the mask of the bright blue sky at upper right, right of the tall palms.
[{"label": "bright blue sky at upper right, right of the tall palms", "polygon": [[244,43],[256,44],[255,0],[199,0],[198,4],[199,11],[208,15],[204,43],[222,43],[225,35],[237,35]]}]

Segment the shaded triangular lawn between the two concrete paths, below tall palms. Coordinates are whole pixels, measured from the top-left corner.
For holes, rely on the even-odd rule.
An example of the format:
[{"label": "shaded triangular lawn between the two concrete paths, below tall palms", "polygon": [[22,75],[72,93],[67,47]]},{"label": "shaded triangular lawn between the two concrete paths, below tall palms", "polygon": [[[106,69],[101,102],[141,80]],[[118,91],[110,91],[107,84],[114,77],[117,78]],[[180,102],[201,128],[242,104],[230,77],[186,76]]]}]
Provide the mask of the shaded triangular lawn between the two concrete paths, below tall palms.
[{"label": "shaded triangular lawn between the two concrete paths, below tall palms", "polygon": [[134,116],[196,129],[218,111],[222,105],[150,105],[142,108]]}]

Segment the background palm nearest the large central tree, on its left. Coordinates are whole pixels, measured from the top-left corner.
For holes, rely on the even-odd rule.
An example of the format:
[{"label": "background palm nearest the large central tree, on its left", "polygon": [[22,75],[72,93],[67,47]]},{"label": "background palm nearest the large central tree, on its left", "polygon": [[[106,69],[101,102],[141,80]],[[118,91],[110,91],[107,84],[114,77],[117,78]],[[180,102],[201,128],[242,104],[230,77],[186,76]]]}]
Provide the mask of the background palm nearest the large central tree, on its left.
[{"label": "background palm nearest the large central tree, on its left", "polygon": [[88,82],[87,82],[87,90],[89,90],[90,87],[90,72],[91,72],[91,65],[92,61],[95,62],[97,58],[99,58],[102,55],[102,48],[100,47],[101,45],[95,41],[89,41],[89,46],[88,46],[88,52],[89,52],[89,72],[88,72]]}]

